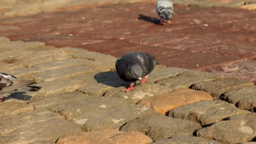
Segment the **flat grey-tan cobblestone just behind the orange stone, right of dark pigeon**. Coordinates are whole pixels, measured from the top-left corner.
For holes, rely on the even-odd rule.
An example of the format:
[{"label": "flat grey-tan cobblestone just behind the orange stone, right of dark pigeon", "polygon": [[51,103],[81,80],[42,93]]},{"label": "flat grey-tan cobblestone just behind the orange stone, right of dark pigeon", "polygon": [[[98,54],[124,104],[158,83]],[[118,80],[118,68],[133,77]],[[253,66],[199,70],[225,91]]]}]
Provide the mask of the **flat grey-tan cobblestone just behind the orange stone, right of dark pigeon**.
[{"label": "flat grey-tan cobblestone just behind the orange stone, right of dark pigeon", "polygon": [[164,78],[161,81],[158,81],[157,84],[177,90],[188,88],[198,82],[214,81],[215,79],[223,79],[223,76],[214,73],[205,73],[203,71],[187,70],[177,76]]}]

